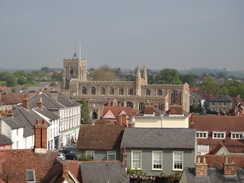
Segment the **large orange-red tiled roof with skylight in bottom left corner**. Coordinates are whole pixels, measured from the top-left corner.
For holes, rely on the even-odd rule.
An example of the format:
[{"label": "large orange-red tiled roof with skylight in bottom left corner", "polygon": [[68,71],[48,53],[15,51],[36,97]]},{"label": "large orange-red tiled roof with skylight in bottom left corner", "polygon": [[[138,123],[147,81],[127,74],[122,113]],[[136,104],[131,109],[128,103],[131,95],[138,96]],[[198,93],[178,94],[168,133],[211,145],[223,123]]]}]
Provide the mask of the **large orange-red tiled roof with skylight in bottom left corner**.
[{"label": "large orange-red tiled roof with skylight in bottom left corner", "polygon": [[0,151],[0,181],[7,178],[7,182],[27,182],[25,171],[33,169],[36,182],[39,182],[56,161],[56,156],[56,151],[37,154],[32,149],[2,150]]}]

